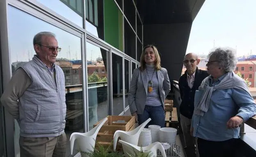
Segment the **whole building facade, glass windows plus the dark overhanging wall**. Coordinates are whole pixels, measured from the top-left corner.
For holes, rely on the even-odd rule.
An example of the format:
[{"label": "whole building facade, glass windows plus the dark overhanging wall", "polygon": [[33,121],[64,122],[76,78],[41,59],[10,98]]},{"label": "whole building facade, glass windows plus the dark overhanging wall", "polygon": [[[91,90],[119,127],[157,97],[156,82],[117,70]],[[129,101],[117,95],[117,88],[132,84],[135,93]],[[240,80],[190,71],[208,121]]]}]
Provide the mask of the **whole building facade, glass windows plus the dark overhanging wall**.
[{"label": "whole building facade, glass windows plus the dark overhanging wall", "polygon": [[[155,2],[0,0],[0,96],[12,73],[35,55],[34,35],[50,31],[62,48],[56,64],[66,80],[67,139],[107,115],[123,115],[143,45],[155,44],[170,80],[178,80],[192,22],[204,0]],[[94,72],[106,79],[89,82]],[[18,123],[0,106],[0,157],[19,157],[18,139]],[[66,156],[73,155],[68,142]]]}]

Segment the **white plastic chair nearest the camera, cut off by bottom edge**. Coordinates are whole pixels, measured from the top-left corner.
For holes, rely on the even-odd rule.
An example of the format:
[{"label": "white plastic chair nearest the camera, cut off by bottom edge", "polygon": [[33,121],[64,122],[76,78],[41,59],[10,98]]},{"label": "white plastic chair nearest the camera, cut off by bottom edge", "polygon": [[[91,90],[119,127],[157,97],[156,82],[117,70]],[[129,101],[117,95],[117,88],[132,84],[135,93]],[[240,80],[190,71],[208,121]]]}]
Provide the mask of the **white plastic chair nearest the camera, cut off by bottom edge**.
[{"label": "white plastic chair nearest the camera, cut off by bottom edge", "polygon": [[[131,155],[134,151],[136,151],[137,153],[139,153],[141,151],[141,147],[135,146],[134,144],[130,144],[130,143],[125,142],[121,139],[119,140],[119,143],[121,143],[122,146],[127,147],[126,150],[123,150],[123,153],[125,153],[126,157],[129,157],[128,154]],[[142,150],[144,152],[151,151],[151,153],[153,153],[152,154],[153,157],[157,157],[157,150],[158,149],[160,150],[162,156],[166,157],[165,148],[164,148],[164,146],[162,146],[162,144],[160,142],[154,142],[153,144],[150,144],[149,146],[142,147]]]}]

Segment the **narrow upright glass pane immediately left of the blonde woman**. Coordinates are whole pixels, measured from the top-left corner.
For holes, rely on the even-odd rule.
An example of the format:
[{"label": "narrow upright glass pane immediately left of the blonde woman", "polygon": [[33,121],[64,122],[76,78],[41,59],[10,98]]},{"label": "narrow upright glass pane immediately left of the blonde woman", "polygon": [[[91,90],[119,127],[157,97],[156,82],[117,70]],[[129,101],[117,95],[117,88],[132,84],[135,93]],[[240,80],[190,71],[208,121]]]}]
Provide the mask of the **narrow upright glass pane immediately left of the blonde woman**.
[{"label": "narrow upright glass pane immediately left of the blonde woman", "polygon": [[130,84],[130,61],[124,60],[124,79],[125,79],[125,106],[128,106],[128,91],[129,91],[129,84]]}]

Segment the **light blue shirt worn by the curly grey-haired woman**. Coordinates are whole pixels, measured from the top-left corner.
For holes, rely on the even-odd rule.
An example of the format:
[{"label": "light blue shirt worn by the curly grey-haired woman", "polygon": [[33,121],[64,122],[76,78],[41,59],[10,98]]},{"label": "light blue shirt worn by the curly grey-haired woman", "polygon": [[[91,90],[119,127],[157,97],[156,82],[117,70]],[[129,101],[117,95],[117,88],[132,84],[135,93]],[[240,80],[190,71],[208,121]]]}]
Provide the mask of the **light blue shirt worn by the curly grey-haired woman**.
[{"label": "light blue shirt worn by the curly grey-haired woman", "polygon": [[[212,78],[209,78],[209,83],[211,86],[215,86],[223,78],[224,75],[215,82],[213,82]],[[226,123],[235,115],[242,117],[245,122],[255,114],[256,104],[254,99],[245,90],[235,88],[218,89],[213,91],[209,109],[204,116],[193,115],[193,136],[209,141],[225,141],[231,138],[239,138],[240,128],[228,129]]]}]

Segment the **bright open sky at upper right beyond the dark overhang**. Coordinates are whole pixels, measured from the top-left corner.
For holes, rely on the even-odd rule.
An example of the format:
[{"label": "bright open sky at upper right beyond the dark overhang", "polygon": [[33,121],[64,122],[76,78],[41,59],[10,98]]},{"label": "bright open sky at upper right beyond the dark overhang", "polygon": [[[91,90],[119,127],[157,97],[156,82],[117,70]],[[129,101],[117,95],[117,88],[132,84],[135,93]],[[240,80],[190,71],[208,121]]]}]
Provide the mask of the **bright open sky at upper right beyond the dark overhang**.
[{"label": "bright open sky at upper right beyond the dark overhang", "polygon": [[192,24],[186,53],[208,54],[216,47],[256,55],[256,0],[205,0]]}]

